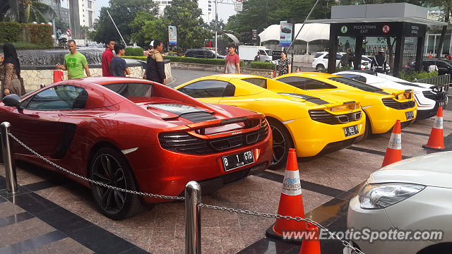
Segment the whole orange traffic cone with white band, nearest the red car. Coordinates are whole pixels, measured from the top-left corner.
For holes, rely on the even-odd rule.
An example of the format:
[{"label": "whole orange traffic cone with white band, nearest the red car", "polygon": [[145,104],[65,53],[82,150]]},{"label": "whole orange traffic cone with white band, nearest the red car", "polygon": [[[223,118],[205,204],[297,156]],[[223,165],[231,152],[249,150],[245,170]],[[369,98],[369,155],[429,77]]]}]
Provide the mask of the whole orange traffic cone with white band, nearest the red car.
[{"label": "whole orange traffic cone with white band, nearest the red car", "polygon": [[[297,154],[294,148],[289,149],[289,156],[287,157],[278,214],[304,218],[302,186],[299,181]],[[293,219],[276,219],[275,224],[266,231],[266,235],[283,241],[300,242],[302,239],[296,237],[295,234],[305,230],[305,222],[297,222]]]}]

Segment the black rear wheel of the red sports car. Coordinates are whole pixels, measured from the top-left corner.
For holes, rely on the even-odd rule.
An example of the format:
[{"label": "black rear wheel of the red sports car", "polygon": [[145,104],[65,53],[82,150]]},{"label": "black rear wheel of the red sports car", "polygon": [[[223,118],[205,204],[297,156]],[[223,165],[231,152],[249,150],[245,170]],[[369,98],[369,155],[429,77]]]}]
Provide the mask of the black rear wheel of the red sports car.
[{"label": "black rear wheel of the red sports car", "polygon": [[[90,163],[90,179],[110,186],[137,191],[131,168],[121,152],[111,147],[98,150]],[[125,219],[141,212],[142,205],[138,195],[113,191],[91,184],[91,192],[100,213],[110,219]]]}]

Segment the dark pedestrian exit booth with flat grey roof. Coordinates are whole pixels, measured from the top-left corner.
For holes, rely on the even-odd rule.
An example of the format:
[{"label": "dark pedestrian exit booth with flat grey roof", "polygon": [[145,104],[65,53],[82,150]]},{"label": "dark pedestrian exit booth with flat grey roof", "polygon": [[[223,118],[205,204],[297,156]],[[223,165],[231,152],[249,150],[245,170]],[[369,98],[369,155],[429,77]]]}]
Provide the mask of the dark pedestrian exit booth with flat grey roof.
[{"label": "dark pedestrian exit booth with flat grey roof", "polygon": [[[336,71],[336,53],[340,37],[355,38],[355,43],[350,44],[352,52],[355,52],[353,62],[355,70],[361,69],[363,42],[371,40],[372,37],[378,37],[388,39],[388,44],[391,44],[390,49],[393,49],[393,43],[396,44],[393,50],[394,76],[397,76],[403,68],[404,56],[407,56],[404,52],[408,52],[408,49],[414,56],[412,60],[416,61],[415,71],[421,71],[427,25],[446,25],[443,22],[427,19],[427,8],[406,3],[333,6],[331,19],[309,20],[309,22],[331,24],[328,73]],[[388,53],[392,54],[392,52]],[[386,59],[388,61],[388,57]]]}]

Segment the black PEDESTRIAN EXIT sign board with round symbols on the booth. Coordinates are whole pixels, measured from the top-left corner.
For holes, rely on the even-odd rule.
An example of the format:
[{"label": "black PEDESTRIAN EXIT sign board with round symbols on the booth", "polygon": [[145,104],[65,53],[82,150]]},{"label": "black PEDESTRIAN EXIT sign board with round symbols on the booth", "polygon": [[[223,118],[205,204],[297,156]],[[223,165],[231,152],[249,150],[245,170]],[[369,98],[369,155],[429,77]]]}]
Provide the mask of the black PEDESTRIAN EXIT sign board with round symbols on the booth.
[{"label": "black PEDESTRIAN EXIT sign board with round symbols on the booth", "polygon": [[331,31],[339,36],[408,36],[423,37],[427,25],[408,22],[333,23]]}]

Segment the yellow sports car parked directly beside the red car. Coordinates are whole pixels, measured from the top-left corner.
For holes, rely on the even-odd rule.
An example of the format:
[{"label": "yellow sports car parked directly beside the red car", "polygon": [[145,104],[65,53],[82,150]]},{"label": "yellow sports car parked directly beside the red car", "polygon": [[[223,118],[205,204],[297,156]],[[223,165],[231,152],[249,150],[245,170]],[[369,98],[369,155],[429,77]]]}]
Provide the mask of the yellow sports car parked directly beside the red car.
[{"label": "yellow sports car parked directly beside the red car", "polygon": [[[365,117],[359,102],[319,97],[309,92],[271,92],[292,86],[257,75],[219,74],[175,87],[206,103],[227,104],[266,115],[273,131],[271,167],[285,164],[290,147],[310,157],[352,145],[362,138]],[[333,96],[332,96],[333,97]]]}]

